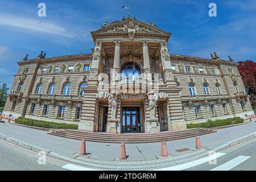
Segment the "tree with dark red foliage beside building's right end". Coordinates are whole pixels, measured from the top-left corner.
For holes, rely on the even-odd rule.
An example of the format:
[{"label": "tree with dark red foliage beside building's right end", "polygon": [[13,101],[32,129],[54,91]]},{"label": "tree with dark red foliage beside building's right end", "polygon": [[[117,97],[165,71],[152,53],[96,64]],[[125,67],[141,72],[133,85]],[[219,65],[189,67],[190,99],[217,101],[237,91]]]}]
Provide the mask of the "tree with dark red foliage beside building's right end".
[{"label": "tree with dark red foliage beside building's right end", "polygon": [[238,62],[238,71],[242,76],[243,83],[247,93],[250,95],[250,101],[253,108],[256,108],[256,63],[251,60]]}]

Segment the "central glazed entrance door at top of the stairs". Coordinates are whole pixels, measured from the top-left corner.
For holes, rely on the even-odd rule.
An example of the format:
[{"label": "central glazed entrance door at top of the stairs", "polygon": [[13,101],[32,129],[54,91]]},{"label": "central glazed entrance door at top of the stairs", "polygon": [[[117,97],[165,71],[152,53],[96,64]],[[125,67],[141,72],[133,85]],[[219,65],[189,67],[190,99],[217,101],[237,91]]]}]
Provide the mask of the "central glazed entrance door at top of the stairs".
[{"label": "central glazed entrance door at top of the stairs", "polygon": [[123,108],[122,114],[123,133],[141,132],[141,121],[138,108]]}]

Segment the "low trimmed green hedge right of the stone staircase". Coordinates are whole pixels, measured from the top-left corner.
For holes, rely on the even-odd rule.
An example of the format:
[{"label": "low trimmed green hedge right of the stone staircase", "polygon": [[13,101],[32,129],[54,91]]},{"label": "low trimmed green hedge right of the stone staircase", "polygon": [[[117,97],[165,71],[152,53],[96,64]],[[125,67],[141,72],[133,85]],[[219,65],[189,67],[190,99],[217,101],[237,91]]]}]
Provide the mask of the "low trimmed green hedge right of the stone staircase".
[{"label": "low trimmed green hedge right of the stone staircase", "polygon": [[208,128],[208,127],[218,127],[218,126],[227,126],[227,125],[234,125],[243,123],[243,119],[240,117],[236,118],[228,118],[228,119],[216,119],[215,121],[212,121],[209,119],[207,122],[204,123],[191,123],[187,124],[188,129],[194,129],[194,128]]}]

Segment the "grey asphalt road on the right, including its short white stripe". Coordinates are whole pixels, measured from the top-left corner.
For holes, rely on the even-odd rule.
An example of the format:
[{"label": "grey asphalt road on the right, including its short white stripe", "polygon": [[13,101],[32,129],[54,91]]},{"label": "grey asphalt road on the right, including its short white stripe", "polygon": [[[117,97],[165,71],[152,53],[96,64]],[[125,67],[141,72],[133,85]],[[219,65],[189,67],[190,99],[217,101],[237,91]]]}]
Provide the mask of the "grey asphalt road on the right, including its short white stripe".
[{"label": "grey asphalt road on the right, including its short white stripe", "polygon": [[[256,140],[242,143],[240,145],[221,151],[226,155],[216,160],[216,164],[204,163],[187,170],[209,171],[255,171],[256,170]],[[231,168],[231,169],[229,169]]]}]

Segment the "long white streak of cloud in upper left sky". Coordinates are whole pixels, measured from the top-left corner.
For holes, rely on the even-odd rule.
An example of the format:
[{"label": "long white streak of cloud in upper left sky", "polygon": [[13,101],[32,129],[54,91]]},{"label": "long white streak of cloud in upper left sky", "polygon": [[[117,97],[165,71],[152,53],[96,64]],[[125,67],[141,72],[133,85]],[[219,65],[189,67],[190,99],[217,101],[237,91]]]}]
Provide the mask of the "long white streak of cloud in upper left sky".
[{"label": "long white streak of cloud in upper left sky", "polygon": [[0,25],[3,26],[13,26],[47,34],[75,37],[74,34],[68,32],[64,27],[57,26],[55,23],[41,22],[37,19],[9,14],[0,14],[0,17]]}]

